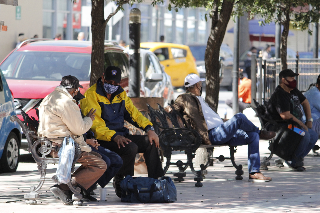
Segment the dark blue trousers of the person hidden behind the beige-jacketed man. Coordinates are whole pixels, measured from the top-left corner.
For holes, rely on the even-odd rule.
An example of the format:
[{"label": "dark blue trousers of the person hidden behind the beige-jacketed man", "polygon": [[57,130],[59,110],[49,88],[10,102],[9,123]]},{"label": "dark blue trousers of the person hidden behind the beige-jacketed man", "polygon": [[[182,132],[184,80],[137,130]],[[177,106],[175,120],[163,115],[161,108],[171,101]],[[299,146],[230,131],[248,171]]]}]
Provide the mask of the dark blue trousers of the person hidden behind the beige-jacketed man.
[{"label": "dark blue trousers of the person hidden behind the beige-jacketed man", "polygon": [[122,166],[122,159],[115,152],[111,152],[110,150],[103,148],[102,146],[98,146],[98,150],[96,150],[91,145],[89,146],[91,147],[92,151],[101,154],[102,160],[104,160],[107,164],[107,170],[103,173],[103,175],[97,181],[97,183],[103,188],[110,182],[110,180],[120,170]]}]

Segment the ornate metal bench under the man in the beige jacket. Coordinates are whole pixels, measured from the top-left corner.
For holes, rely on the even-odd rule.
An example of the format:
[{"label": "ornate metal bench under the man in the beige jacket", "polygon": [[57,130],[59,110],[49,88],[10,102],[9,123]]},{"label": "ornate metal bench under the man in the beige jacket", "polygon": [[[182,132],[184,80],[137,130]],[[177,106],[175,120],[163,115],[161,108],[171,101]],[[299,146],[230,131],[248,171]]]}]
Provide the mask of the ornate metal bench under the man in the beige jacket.
[{"label": "ornate metal bench under the man in the beige jacket", "polygon": [[[25,134],[27,141],[28,141],[28,152],[32,154],[32,157],[38,164],[38,171],[40,172],[40,181],[37,186],[30,186],[30,193],[25,194],[24,198],[28,199],[25,201],[26,204],[36,204],[36,199],[39,199],[39,193],[38,191],[41,189],[41,187],[44,184],[45,180],[52,180],[53,183],[58,183],[59,179],[56,175],[52,176],[51,178],[45,177],[46,170],[47,170],[47,164],[49,163],[59,163],[59,158],[52,158],[49,156],[52,150],[58,152],[59,147],[52,146],[52,142],[50,140],[63,140],[64,138],[44,138],[44,137],[38,137],[37,136],[37,129],[39,122],[34,117],[29,117],[28,114],[26,114],[23,110],[21,110],[21,115],[23,116],[24,121],[22,122],[17,116],[13,115],[11,116],[10,120],[12,122],[16,121],[21,126],[21,129],[23,133]],[[38,115],[38,111],[37,111]],[[38,115],[39,118],[39,115]],[[70,136],[68,136],[69,138]],[[68,139],[67,138],[67,139]],[[78,161],[81,149],[80,146],[75,143],[76,146],[76,154],[72,163],[71,173],[74,171],[75,163]],[[71,182],[68,183],[69,188],[74,193],[72,195],[72,199],[74,200],[73,205],[81,206],[82,202],[80,199],[82,199],[81,188],[74,187],[71,185]]]}]

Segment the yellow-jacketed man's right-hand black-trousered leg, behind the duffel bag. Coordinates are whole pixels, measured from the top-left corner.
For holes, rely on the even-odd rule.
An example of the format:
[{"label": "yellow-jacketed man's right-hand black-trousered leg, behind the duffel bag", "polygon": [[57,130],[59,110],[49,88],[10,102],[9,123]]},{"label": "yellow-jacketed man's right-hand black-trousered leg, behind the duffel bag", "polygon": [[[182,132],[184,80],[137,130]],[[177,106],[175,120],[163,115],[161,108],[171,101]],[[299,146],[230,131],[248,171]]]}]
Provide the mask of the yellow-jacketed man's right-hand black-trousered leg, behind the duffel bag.
[{"label": "yellow-jacketed man's right-hand black-trousered leg, behind the duffel bag", "polygon": [[143,153],[148,169],[148,177],[157,179],[164,176],[156,144],[153,142],[151,145],[147,135],[127,135],[126,138],[129,138],[132,143],[138,146],[138,153]]}]

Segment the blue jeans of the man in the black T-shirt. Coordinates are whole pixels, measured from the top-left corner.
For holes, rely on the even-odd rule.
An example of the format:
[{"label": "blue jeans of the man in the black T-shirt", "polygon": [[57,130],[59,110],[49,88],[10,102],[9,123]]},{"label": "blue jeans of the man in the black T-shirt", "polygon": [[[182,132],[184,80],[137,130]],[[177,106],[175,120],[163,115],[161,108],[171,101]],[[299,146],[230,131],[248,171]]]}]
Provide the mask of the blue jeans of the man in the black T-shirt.
[{"label": "blue jeans of the man in the black T-shirt", "polygon": [[318,133],[314,130],[309,129],[309,132],[305,131],[306,134],[302,137],[299,145],[294,151],[293,158],[292,158],[292,166],[295,166],[297,161],[302,162],[304,156],[306,156],[310,150],[315,146],[316,142],[318,141]]}]

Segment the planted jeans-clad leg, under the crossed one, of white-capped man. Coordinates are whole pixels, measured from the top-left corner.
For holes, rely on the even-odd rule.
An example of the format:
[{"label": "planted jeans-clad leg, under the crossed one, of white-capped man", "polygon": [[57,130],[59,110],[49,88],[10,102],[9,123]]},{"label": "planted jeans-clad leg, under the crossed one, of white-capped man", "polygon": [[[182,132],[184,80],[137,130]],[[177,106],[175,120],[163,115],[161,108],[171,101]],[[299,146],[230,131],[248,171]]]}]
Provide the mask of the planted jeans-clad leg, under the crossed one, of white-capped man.
[{"label": "planted jeans-clad leg, under the crossed one, of white-capped man", "polygon": [[231,146],[248,145],[248,171],[260,171],[259,134],[257,132],[244,132],[237,130],[233,138],[229,140]]}]

